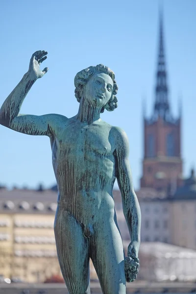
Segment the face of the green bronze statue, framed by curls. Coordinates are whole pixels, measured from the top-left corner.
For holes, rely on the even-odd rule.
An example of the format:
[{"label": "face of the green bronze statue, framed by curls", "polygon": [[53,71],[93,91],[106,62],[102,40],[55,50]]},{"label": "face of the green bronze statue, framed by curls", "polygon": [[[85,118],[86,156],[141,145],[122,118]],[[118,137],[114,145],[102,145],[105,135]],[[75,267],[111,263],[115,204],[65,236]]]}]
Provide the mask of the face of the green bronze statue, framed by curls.
[{"label": "face of the green bronze statue, framed by curls", "polygon": [[91,104],[103,107],[112,96],[113,80],[106,73],[94,73],[85,87],[85,99]]}]

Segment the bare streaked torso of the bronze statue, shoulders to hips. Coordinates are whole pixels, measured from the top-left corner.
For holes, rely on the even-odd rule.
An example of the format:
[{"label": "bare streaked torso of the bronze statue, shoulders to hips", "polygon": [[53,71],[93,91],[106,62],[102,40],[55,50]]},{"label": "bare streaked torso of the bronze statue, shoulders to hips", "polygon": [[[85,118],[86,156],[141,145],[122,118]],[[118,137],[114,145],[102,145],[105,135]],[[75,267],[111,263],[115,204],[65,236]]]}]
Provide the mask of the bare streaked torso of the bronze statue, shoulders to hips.
[{"label": "bare streaked torso of the bronze statue, shoulders to hips", "polygon": [[[51,142],[52,164],[58,183],[58,203],[83,223],[111,211],[115,180],[115,142],[112,126],[98,120],[85,125],[69,119]],[[85,221],[86,220],[86,221]]]}]

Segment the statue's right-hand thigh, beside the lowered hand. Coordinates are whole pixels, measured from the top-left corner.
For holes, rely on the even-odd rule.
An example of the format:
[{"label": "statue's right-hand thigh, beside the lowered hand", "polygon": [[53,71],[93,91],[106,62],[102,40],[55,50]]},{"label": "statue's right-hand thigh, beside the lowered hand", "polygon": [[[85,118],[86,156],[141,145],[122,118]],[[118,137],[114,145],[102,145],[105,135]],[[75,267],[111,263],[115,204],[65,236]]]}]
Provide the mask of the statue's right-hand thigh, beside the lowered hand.
[{"label": "statue's right-hand thigh, beside the lowered hand", "polygon": [[123,241],[114,221],[99,223],[92,249],[103,294],[125,294]]}]

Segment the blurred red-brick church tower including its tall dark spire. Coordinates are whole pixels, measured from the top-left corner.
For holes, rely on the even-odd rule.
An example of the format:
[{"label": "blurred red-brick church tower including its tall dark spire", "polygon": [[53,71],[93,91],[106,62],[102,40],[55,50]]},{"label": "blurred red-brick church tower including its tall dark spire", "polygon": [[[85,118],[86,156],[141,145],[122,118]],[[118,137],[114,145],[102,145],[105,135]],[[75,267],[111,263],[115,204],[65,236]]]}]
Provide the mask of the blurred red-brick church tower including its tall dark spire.
[{"label": "blurred red-brick church tower including its tall dark spire", "polygon": [[167,84],[163,15],[159,16],[159,47],[153,113],[144,120],[144,158],[141,188],[154,188],[172,195],[181,185],[181,111],[172,116]]}]

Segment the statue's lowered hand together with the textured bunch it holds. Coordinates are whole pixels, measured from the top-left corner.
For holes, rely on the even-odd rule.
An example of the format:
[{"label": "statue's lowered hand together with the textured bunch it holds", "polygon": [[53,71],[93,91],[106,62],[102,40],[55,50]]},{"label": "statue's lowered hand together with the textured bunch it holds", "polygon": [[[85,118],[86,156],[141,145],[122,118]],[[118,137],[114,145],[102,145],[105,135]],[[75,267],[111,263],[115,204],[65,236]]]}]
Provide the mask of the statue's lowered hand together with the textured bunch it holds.
[{"label": "statue's lowered hand together with the textured bunch it holds", "polygon": [[128,245],[128,257],[124,260],[124,270],[127,282],[133,282],[137,278],[139,269],[139,258],[138,256],[139,244],[138,242],[131,242]]}]

